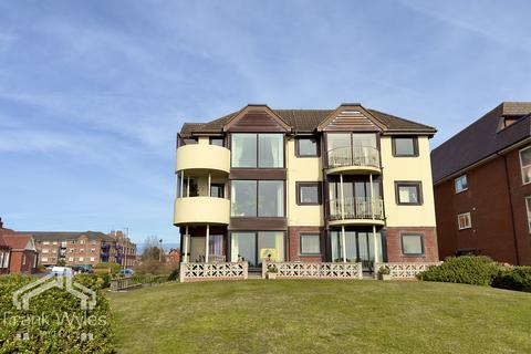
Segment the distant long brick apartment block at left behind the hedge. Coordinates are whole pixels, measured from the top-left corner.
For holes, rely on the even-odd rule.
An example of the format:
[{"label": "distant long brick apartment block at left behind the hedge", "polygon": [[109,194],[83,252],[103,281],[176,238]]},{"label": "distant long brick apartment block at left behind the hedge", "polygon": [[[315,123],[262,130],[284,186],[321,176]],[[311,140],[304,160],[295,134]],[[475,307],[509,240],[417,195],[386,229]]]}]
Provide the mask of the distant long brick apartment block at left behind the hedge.
[{"label": "distant long brick apartment block at left behind the hedge", "polygon": [[116,242],[103,232],[24,231],[32,235],[39,251],[39,264],[94,266],[116,262]]}]

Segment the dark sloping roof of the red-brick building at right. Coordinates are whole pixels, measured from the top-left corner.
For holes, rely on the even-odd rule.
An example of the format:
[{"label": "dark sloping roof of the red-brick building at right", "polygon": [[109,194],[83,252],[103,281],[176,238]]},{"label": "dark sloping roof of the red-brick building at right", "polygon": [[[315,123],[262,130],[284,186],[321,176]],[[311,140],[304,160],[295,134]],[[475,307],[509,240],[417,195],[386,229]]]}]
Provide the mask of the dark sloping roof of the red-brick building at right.
[{"label": "dark sloping roof of the red-brick building at right", "polygon": [[[531,134],[531,102],[503,102],[431,152],[431,173],[438,183]],[[499,129],[503,116],[523,116]]]}]

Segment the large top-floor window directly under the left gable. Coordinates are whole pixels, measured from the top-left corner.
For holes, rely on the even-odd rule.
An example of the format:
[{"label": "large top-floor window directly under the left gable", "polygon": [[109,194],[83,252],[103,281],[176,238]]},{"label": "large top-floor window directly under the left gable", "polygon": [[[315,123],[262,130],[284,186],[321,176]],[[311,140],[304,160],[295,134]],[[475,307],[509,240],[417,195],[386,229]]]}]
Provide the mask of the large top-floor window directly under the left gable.
[{"label": "large top-floor window directly under the left gable", "polygon": [[232,134],[232,167],[284,167],[283,134]]}]

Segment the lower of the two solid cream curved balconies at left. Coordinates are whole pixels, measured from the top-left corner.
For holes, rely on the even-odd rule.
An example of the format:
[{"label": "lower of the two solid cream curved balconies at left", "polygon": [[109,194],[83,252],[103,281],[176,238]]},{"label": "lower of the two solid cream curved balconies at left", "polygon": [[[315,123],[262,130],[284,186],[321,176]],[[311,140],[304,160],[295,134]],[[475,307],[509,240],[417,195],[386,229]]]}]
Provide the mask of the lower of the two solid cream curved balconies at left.
[{"label": "lower of the two solid cream curved balconies at left", "polygon": [[175,200],[174,225],[229,225],[229,199],[189,197]]}]

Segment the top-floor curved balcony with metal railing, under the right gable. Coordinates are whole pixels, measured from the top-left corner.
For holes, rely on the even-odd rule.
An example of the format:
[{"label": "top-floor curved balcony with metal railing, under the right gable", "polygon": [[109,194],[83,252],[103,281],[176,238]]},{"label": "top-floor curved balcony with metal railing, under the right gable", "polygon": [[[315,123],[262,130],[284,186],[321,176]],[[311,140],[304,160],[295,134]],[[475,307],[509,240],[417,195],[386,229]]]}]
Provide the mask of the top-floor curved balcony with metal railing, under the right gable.
[{"label": "top-floor curved balcony with metal railing, under the right gable", "polygon": [[329,175],[381,174],[379,152],[372,146],[343,146],[327,153]]}]

